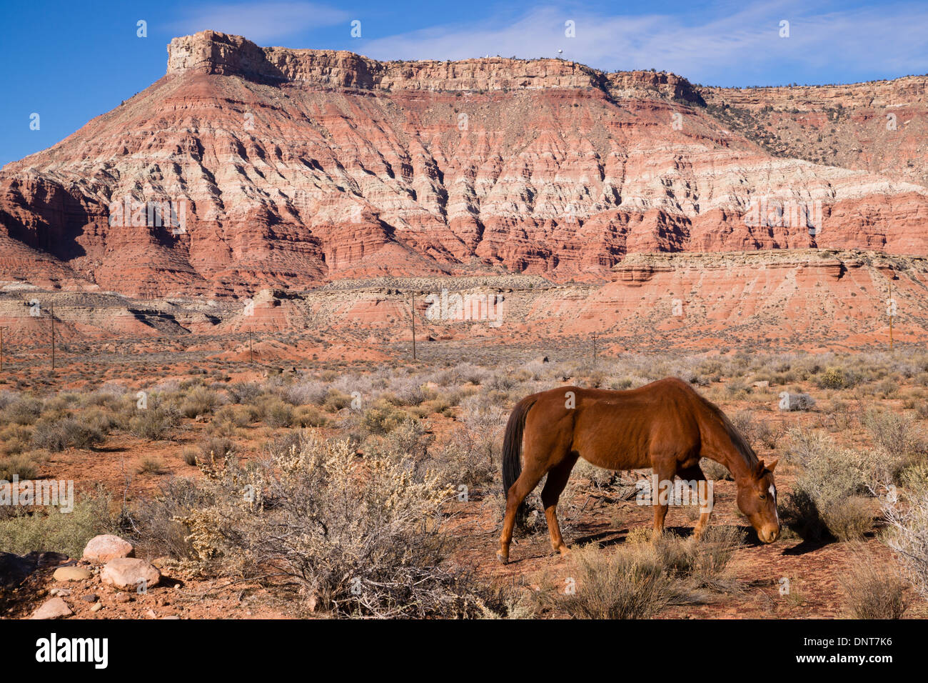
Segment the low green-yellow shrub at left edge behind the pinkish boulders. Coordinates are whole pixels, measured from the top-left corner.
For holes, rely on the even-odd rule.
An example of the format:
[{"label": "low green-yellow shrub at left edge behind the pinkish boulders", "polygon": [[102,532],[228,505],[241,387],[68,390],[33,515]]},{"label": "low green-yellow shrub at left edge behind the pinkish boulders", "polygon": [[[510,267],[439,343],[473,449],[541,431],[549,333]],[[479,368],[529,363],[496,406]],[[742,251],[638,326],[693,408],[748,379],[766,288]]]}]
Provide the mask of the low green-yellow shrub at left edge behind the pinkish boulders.
[{"label": "low green-yellow shrub at left edge behind the pinkish boulders", "polygon": [[80,558],[94,536],[116,531],[110,515],[110,500],[103,493],[74,502],[74,509],[63,514],[58,509],[43,509],[0,519],[0,547],[7,552],[25,555],[33,550],[66,553]]}]

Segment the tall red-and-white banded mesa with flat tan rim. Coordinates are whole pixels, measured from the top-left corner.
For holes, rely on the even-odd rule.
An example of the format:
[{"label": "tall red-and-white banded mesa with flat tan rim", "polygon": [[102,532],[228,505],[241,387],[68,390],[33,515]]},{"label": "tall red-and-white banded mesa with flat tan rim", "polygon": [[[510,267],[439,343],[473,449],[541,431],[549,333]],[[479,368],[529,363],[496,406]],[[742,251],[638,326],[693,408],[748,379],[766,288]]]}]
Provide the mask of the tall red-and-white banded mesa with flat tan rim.
[{"label": "tall red-and-white banded mesa with flat tan rim", "polygon": [[0,280],[247,296],[506,269],[604,282],[639,252],[925,253],[907,164],[777,157],[715,118],[719,97],[560,59],[177,38],[161,80],[0,171]]}]

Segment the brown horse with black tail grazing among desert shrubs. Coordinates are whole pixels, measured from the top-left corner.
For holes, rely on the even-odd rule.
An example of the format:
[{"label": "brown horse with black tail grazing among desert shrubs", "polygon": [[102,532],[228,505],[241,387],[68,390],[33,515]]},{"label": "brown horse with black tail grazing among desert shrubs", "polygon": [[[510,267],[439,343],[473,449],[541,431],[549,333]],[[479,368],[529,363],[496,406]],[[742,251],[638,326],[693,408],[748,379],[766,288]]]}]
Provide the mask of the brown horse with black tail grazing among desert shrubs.
[{"label": "brown horse with black tail grazing among desert shrubs", "polygon": [[[524,458],[522,443],[524,441]],[[499,538],[499,561],[509,561],[509,544],[525,496],[546,474],[541,491],[552,547],[569,552],[555,508],[578,457],[607,469],[650,466],[655,479],[704,482],[699,466],[707,457],[728,467],[738,486],[738,507],[758,538],[780,535],[774,460],[765,466],[728,417],[689,384],[674,377],[629,391],[559,387],[527,396],[509,415],[503,443],[506,517]],[[524,459],[524,467],[522,467]],[[667,505],[654,502],[654,532],[664,532]],[[695,534],[702,535],[711,508],[702,508]]]}]

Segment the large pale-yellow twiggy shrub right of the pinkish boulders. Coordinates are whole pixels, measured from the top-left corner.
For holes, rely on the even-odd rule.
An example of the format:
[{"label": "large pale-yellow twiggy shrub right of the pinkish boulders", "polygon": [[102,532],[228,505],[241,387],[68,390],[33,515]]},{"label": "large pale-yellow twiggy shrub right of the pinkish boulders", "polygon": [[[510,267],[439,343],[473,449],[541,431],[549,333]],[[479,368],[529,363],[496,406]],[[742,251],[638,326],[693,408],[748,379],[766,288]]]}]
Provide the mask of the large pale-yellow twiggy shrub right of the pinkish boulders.
[{"label": "large pale-yellow twiggy shrub right of the pinkish boulders", "polygon": [[[315,434],[250,471],[201,466],[208,506],[182,521],[198,561],[221,558],[244,575],[269,568],[303,585],[308,604],[336,615],[476,613],[456,592],[445,557],[442,510],[452,490],[415,479],[408,461],[359,460],[346,440]],[[243,495],[243,490],[253,496]],[[470,607],[469,607],[470,606]]]}]

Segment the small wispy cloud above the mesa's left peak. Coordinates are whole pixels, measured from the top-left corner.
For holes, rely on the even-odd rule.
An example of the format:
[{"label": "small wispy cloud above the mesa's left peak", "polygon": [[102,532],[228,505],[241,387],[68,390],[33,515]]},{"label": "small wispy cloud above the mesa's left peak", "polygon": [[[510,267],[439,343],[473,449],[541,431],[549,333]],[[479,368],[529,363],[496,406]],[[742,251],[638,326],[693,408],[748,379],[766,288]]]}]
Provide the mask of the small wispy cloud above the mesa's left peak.
[{"label": "small wispy cloud above the mesa's left peak", "polygon": [[342,22],[347,26],[348,20],[347,12],[315,3],[227,3],[190,7],[171,28],[180,35],[207,29],[234,33],[267,46],[320,26]]}]

